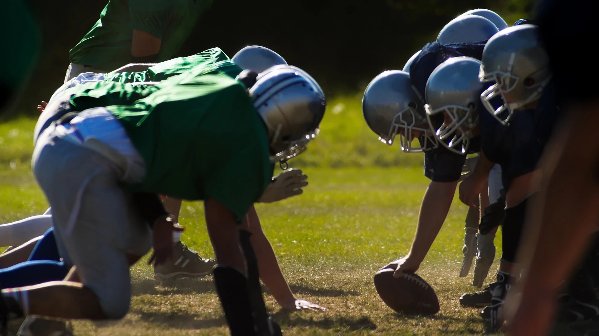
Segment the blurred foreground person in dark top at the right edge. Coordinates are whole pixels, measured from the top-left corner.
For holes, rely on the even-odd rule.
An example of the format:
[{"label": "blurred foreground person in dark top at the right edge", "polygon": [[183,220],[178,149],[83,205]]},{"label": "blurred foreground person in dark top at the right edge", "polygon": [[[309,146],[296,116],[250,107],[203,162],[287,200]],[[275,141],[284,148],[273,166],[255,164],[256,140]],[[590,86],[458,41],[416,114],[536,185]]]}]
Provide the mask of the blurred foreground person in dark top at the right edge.
[{"label": "blurred foreground person in dark top at the right edge", "polygon": [[[571,50],[585,45],[588,36],[597,32],[597,6],[589,1],[541,4],[540,36],[565,109],[561,126],[550,138],[540,161],[541,190],[528,216],[518,256],[524,269],[521,291],[510,293],[513,306],[509,333],[518,336],[549,334],[562,282],[576,268],[599,221],[599,142],[592,137],[599,121],[599,102],[588,72],[567,69],[574,63],[589,64],[590,55],[572,54]],[[557,20],[564,17],[573,18],[571,25],[558,24]],[[506,301],[507,308],[510,304]],[[596,334],[593,331],[587,335]]]}]

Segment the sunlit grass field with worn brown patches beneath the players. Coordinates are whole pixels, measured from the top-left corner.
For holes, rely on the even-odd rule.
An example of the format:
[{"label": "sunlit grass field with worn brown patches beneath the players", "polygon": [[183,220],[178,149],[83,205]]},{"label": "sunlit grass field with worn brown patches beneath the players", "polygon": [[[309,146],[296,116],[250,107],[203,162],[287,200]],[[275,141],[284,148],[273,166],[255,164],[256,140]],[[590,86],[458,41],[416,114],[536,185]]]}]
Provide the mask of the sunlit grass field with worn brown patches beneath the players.
[{"label": "sunlit grass field with worn brown patches beneath the players", "polygon": [[[374,272],[409,249],[428,180],[420,155],[401,154],[397,146],[377,141],[364,124],[359,98],[331,100],[321,134],[291,162],[309,176],[304,194],[257,206],[292,290],[329,309],[285,313],[267,294],[269,310],[285,335],[482,334],[477,310],[458,304],[459,295],[474,288],[471,276],[458,277],[467,207],[457,197],[418,271],[435,288],[441,311],[432,317],[404,316],[376,294]],[[46,210],[29,169],[33,127],[34,120],[26,118],[0,125],[1,222]],[[201,203],[183,204],[181,224],[187,228],[184,242],[213,257]],[[135,265],[134,297],[125,319],[75,322],[75,334],[228,334],[211,277],[176,280],[165,288],[152,276],[145,262]]]}]

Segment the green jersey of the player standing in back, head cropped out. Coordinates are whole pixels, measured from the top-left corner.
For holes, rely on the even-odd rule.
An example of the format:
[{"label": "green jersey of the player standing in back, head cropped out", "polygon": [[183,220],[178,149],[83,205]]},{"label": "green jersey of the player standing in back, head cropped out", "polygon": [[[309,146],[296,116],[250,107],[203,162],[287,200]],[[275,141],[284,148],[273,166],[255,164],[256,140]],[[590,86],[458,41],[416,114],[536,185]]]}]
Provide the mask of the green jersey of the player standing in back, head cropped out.
[{"label": "green jersey of the player standing in back, head cropped out", "polygon": [[159,62],[171,59],[211,4],[212,0],[110,0],[69,59],[107,71],[131,63],[133,29],[162,40]]}]

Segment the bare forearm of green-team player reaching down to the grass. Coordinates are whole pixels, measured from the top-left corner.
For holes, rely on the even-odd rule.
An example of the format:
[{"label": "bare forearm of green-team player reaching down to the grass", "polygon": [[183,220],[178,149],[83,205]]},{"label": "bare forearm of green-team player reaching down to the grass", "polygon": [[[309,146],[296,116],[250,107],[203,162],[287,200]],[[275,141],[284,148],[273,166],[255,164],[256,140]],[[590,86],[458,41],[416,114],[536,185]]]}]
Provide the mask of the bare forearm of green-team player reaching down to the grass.
[{"label": "bare forearm of green-team player reaching down to the grass", "polygon": [[294,294],[289,289],[289,285],[281,272],[277,257],[274,255],[273,247],[262,232],[258,213],[256,213],[256,209],[253,206],[247,212],[247,221],[249,231],[252,233],[250,241],[256,253],[258,271],[262,283],[264,283],[264,286],[266,286],[281,306],[295,306]]}]

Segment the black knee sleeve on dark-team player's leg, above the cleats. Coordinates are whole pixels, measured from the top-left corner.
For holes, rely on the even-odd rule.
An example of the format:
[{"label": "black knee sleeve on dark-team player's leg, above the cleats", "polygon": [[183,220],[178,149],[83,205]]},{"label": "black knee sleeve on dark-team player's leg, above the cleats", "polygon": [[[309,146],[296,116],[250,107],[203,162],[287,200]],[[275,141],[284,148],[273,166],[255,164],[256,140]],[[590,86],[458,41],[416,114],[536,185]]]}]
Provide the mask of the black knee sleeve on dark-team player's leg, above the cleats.
[{"label": "black knee sleeve on dark-team player's leg, above the cleats", "polygon": [[506,207],[501,236],[501,247],[503,249],[501,260],[503,261],[514,262],[516,259],[516,251],[518,251],[518,244],[522,236],[522,227],[524,227],[524,217],[529,198],[530,196],[524,198],[515,206]]}]

